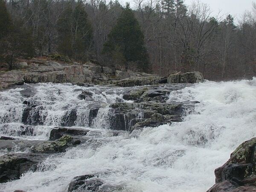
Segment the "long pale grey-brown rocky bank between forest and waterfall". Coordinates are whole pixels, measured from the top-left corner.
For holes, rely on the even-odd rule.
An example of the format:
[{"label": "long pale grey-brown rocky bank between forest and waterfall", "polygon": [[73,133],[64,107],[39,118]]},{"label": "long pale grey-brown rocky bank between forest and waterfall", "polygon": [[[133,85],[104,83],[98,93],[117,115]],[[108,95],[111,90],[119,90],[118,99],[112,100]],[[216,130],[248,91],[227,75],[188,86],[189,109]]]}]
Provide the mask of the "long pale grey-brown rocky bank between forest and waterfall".
[{"label": "long pale grey-brown rocky bank between forest and waterfall", "polygon": [[[17,64],[18,70],[0,71],[0,89],[24,83],[78,83],[112,84],[120,87],[141,86],[167,83],[167,78],[131,70],[115,70],[97,64],[65,64],[33,58]],[[201,73],[188,73],[169,77],[169,83],[194,83],[203,81]]]}]

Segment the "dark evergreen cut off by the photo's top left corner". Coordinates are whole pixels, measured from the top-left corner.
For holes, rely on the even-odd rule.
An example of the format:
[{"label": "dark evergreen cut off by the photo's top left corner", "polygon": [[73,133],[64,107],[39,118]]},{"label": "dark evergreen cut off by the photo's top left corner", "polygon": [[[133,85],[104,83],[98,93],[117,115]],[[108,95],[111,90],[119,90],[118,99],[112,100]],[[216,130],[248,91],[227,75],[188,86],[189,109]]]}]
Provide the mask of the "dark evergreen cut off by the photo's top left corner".
[{"label": "dark evergreen cut off by the photo's top left corner", "polygon": [[12,27],[12,20],[4,0],[0,0],[0,39],[8,34]]}]

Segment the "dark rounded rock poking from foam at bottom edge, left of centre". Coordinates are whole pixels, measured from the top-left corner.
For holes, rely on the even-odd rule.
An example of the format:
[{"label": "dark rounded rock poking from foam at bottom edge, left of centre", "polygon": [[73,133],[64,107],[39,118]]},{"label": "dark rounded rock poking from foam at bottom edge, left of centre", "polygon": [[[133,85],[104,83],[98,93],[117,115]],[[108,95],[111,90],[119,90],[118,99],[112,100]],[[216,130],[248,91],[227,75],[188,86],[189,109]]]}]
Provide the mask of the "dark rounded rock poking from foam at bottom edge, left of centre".
[{"label": "dark rounded rock poking from foam at bottom edge, left of centre", "polygon": [[98,191],[103,182],[94,175],[81,175],[74,177],[70,182],[68,192]]}]

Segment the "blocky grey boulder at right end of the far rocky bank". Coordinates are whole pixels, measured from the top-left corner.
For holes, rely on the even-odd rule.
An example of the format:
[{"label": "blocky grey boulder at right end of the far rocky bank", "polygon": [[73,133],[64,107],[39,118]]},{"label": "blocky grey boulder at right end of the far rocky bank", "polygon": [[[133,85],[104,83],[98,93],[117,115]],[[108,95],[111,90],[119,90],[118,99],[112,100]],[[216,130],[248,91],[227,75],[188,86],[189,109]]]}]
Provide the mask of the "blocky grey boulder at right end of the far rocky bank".
[{"label": "blocky grey boulder at right end of the far rocky bank", "polygon": [[172,74],[167,79],[168,83],[199,83],[203,81],[203,74],[198,71],[183,74]]}]

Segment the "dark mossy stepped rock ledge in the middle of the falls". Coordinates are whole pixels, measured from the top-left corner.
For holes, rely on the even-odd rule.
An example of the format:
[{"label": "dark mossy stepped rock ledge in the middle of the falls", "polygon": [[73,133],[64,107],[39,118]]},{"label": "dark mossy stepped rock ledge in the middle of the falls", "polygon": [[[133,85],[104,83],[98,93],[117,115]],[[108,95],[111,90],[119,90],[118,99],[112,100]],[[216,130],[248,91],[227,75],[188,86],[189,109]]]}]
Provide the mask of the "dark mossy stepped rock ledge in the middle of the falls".
[{"label": "dark mossy stepped rock ledge in the middle of the falls", "polygon": [[[190,84],[183,84],[189,86]],[[172,86],[170,86],[172,87]],[[116,102],[110,105],[111,128],[133,131],[143,127],[156,127],[166,123],[181,122],[184,108],[198,102],[167,102],[172,90],[182,86],[141,87],[123,94],[123,99],[131,102]]]}]

